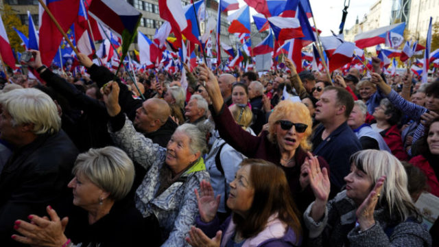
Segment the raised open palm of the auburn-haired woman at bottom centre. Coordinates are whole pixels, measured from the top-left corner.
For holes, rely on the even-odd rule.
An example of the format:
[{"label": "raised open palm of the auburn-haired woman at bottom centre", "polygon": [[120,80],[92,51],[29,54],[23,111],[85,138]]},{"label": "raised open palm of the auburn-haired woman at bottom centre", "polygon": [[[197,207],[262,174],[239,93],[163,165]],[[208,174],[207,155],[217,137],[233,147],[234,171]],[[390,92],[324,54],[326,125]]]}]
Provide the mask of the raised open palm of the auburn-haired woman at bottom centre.
[{"label": "raised open palm of the auburn-haired woman at bottom centre", "polygon": [[215,219],[219,200],[221,195],[215,198],[211,183],[202,180],[200,183],[200,191],[195,189],[195,196],[198,201],[198,211],[200,211],[200,218],[203,222],[211,222]]}]

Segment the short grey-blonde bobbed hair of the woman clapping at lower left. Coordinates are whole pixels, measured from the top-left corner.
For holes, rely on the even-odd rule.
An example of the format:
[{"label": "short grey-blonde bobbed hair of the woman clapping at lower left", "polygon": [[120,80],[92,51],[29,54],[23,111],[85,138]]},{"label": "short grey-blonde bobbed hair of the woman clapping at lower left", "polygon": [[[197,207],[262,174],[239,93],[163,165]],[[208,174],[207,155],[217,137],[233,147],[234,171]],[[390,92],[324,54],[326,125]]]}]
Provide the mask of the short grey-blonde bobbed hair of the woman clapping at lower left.
[{"label": "short grey-blonde bobbed hair of the woman clapping at lower left", "polygon": [[91,148],[78,155],[73,174],[86,176],[91,183],[110,193],[109,198],[117,201],[130,192],[134,182],[134,165],[120,148]]}]

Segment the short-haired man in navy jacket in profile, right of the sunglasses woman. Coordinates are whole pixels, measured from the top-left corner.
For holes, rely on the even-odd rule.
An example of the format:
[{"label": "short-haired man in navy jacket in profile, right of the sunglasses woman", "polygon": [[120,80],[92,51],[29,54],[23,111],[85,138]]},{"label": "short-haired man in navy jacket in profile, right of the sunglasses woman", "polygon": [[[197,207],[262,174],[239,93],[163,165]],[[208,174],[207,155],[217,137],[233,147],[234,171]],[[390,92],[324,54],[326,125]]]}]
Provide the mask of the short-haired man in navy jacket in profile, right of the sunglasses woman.
[{"label": "short-haired man in navy jacket in profile, right of the sunglasses woman", "polygon": [[313,133],[313,154],[323,156],[331,170],[331,195],[340,191],[349,173],[349,158],[361,150],[361,144],[347,119],[354,106],[354,99],[340,87],[327,86],[316,104],[316,120],[322,123]]}]

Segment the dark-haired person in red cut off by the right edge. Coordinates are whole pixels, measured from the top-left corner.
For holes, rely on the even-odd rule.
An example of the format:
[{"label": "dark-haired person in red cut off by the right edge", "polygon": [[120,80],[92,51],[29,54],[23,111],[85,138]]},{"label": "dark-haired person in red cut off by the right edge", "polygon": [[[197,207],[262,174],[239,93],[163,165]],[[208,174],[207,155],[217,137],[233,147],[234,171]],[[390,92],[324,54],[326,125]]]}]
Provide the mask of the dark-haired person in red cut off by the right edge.
[{"label": "dark-haired person in red cut off by the right edge", "polygon": [[427,126],[418,149],[421,154],[414,156],[410,163],[424,172],[430,192],[439,196],[439,118]]}]

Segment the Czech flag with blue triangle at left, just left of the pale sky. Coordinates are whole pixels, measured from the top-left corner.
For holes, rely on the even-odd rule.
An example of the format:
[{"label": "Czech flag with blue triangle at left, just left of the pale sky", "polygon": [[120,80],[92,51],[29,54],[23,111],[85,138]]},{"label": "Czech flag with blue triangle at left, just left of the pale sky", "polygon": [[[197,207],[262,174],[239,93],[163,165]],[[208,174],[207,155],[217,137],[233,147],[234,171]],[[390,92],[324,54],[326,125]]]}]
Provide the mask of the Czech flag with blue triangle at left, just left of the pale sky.
[{"label": "Czech flag with blue triangle at left, just left of the pale sky", "polygon": [[280,16],[268,17],[274,36],[278,41],[303,37],[302,27],[296,18],[283,18]]}]

